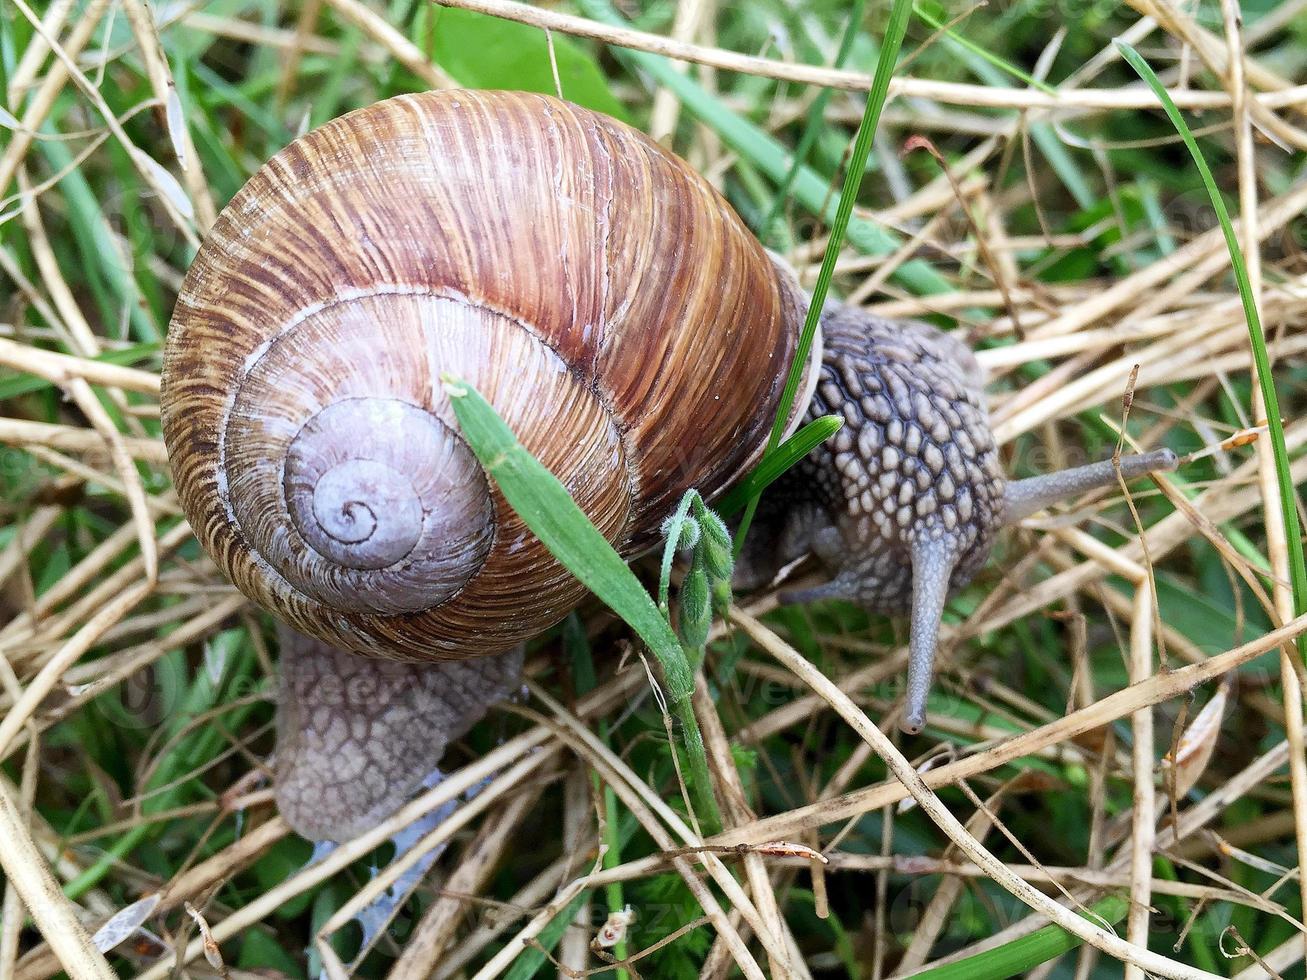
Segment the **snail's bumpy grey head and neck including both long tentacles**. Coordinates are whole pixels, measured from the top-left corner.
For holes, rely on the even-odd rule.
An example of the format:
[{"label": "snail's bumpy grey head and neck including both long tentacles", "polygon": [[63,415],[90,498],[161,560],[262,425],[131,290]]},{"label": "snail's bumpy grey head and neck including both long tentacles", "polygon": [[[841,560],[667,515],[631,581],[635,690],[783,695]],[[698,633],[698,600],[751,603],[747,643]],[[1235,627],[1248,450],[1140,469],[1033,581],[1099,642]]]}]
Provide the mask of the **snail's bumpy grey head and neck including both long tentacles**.
[{"label": "snail's bumpy grey head and neck including both long tentacles", "polygon": [[1050,503],[1150,470],[1175,453],[1123,456],[1008,481],[985,410],[984,372],[957,337],[831,303],[822,314],[812,421],[844,419],[765,498],[736,584],[755,587],[812,553],[830,572],[787,601],[844,598],[911,614],[907,704],[901,727],[925,724],[940,619],[948,597],[989,557],[1004,524]]}]

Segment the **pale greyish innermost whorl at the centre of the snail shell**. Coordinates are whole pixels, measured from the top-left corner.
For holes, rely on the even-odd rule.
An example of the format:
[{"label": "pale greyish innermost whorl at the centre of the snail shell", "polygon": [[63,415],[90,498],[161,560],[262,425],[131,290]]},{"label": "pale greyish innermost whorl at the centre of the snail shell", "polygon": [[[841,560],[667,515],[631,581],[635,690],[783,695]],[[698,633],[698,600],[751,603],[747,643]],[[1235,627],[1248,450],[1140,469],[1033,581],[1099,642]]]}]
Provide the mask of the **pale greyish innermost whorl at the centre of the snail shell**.
[{"label": "pale greyish innermost whorl at the centre of the snail shell", "polygon": [[[235,493],[229,482],[233,516],[305,595],[335,609],[416,613],[456,593],[485,561],[494,529],[485,474],[438,416],[397,399],[350,397],[276,447],[247,426],[229,417],[223,447],[244,442],[280,456],[229,461],[229,474],[242,469]],[[295,534],[302,547],[291,547]]]}]

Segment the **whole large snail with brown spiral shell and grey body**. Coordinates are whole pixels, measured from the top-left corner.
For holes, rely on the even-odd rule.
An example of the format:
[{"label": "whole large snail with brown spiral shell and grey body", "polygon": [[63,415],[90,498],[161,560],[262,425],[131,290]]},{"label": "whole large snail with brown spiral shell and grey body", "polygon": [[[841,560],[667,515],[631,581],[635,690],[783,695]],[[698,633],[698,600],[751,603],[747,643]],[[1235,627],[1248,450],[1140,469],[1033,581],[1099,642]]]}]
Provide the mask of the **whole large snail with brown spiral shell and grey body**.
[{"label": "whole large snail with brown spiral shell and grey body", "polygon": [[[400,95],[250,179],[182,285],[162,421],[201,545],[285,625],[293,826],[340,840],[400,805],[583,597],[440,378],[476,385],[634,557],[686,490],[712,499],[761,457],[806,306],[689,165],[545,95]],[[1005,482],[962,342],[838,304],[823,336],[789,421],[846,425],[769,499],[741,580],[812,550],[833,579],[799,598],[910,605],[919,728],[942,604],[995,531],[1116,470]]]}]

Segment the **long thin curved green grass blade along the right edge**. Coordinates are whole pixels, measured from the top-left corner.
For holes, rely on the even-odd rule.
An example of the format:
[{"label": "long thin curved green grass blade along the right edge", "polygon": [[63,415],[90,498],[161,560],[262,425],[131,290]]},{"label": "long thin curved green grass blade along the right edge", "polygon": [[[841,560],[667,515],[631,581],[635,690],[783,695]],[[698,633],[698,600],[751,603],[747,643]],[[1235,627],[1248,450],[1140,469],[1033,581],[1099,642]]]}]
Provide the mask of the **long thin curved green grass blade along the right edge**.
[{"label": "long thin curved green grass blade along the right edge", "polygon": [[[1208,189],[1212,208],[1221,222],[1221,234],[1225,235],[1226,248],[1230,251],[1230,265],[1234,268],[1234,278],[1239,285],[1239,299],[1243,302],[1243,315],[1248,323],[1248,344],[1252,346],[1252,359],[1257,366],[1257,384],[1261,388],[1261,400],[1266,406],[1266,430],[1270,436],[1270,452],[1276,461],[1276,482],[1280,486],[1280,506],[1285,521],[1285,538],[1289,545],[1289,578],[1294,589],[1294,613],[1302,615],[1307,612],[1307,561],[1303,558],[1302,527],[1298,523],[1298,498],[1294,490],[1294,478],[1289,469],[1289,447],[1285,444],[1285,425],[1280,418],[1280,399],[1276,396],[1276,380],[1270,374],[1270,357],[1266,354],[1266,335],[1261,328],[1261,316],[1257,314],[1257,303],[1252,295],[1252,281],[1248,278],[1248,265],[1239,248],[1239,238],[1234,233],[1230,222],[1230,212],[1226,210],[1225,200],[1217,188],[1212,169],[1199,149],[1197,140],[1189,132],[1184,116],[1171,101],[1166,86],[1149,67],[1148,61],[1124,41],[1115,41],[1116,50],[1121,57],[1133,68],[1138,76],[1148,82],[1153,93],[1161,99],[1162,108],[1171,119],[1171,125],[1180,133],[1184,145],[1193,157],[1193,165],[1202,176],[1202,184]],[[1307,636],[1298,638],[1298,653],[1307,662]]]}]

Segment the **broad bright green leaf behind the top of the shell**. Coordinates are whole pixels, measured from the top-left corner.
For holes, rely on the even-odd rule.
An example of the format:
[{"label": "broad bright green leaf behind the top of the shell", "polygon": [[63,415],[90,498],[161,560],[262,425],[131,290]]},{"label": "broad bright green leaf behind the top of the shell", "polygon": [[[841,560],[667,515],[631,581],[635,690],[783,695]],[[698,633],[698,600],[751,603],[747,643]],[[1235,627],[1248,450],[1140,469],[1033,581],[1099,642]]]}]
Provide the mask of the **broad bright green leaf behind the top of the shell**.
[{"label": "broad bright green leaf behind the top of the shell", "polygon": [[[563,98],[626,119],[599,64],[575,42],[554,34]],[[519,89],[558,94],[549,42],[538,27],[472,10],[442,8],[435,21],[435,60],[472,89]]]}]

